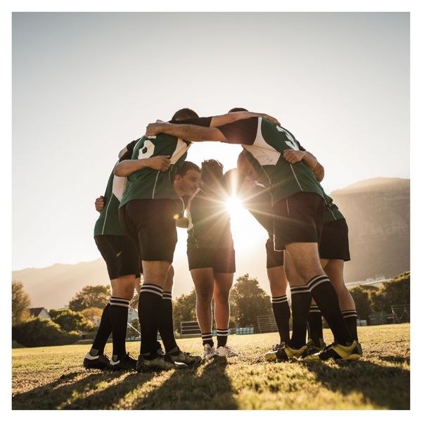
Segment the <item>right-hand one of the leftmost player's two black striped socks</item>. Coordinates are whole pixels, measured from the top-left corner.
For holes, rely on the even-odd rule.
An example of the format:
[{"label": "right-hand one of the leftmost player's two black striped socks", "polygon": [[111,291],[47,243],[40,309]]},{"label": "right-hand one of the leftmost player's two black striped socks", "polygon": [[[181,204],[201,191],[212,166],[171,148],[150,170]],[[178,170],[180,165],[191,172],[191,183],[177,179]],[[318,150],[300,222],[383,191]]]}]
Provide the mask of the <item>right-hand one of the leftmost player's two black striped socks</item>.
[{"label": "right-hand one of the leftmost player's two black striped socks", "polygon": [[126,354],[127,311],[129,300],[116,298],[110,299],[111,330],[113,332],[113,357],[122,357]]}]

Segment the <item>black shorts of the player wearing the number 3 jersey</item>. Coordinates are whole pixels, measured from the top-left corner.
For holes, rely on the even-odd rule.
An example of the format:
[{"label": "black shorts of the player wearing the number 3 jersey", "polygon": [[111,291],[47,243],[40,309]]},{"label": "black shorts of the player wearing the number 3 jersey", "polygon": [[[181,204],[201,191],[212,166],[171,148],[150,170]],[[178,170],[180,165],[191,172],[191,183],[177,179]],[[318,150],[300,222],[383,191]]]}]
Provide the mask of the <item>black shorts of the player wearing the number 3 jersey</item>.
[{"label": "black shorts of the player wearing the number 3 jersey", "polygon": [[295,193],[276,202],[272,211],[275,250],[284,250],[289,243],[319,243],[325,203],[317,193]]}]

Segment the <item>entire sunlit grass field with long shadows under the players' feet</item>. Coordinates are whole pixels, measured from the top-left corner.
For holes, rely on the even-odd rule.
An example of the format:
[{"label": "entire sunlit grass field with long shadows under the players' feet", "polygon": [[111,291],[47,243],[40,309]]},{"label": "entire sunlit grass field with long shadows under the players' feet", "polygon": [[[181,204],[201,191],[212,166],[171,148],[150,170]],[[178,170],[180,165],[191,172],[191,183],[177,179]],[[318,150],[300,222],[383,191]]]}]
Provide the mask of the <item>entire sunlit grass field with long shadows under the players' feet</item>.
[{"label": "entire sunlit grass field with long shadows under the players' feet", "polygon": [[[275,333],[233,335],[238,357],[142,374],[86,371],[88,345],[15,349],[12,409],[410,409],[409,331],[359,327],[364,357],[338,364],[268,363]],[[178,342],[201,353],[200,338]],[[139,342],[127,348],[137,357]]]}]

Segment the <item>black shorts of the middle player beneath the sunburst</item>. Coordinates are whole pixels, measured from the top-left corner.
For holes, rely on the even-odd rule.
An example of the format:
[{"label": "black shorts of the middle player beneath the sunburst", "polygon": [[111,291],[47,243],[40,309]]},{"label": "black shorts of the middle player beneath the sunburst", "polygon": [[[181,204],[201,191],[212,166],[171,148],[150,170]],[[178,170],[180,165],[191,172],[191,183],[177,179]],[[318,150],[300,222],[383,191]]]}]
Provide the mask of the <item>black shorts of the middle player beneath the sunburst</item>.
[{"label": "black shorts of the middle player beneath the sunburst", "polygon": [[234,273],[236,271],[234,249],[188,249],[189,269],[212,268],[215,272]]}]

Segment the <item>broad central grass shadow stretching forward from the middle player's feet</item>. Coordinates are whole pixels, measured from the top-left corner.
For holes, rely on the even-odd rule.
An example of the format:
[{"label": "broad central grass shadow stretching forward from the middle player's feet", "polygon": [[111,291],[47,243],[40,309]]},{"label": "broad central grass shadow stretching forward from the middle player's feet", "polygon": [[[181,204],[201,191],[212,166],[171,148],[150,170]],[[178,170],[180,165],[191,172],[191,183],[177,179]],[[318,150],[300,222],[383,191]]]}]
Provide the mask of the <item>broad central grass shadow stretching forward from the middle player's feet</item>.
[{"label": "broad central grass shadow stretching forward from the middle player's feet", "polygon": [[226,375],[226,359],[174,371],[159,388],[137,399],[132,409],[238,409]]}]

